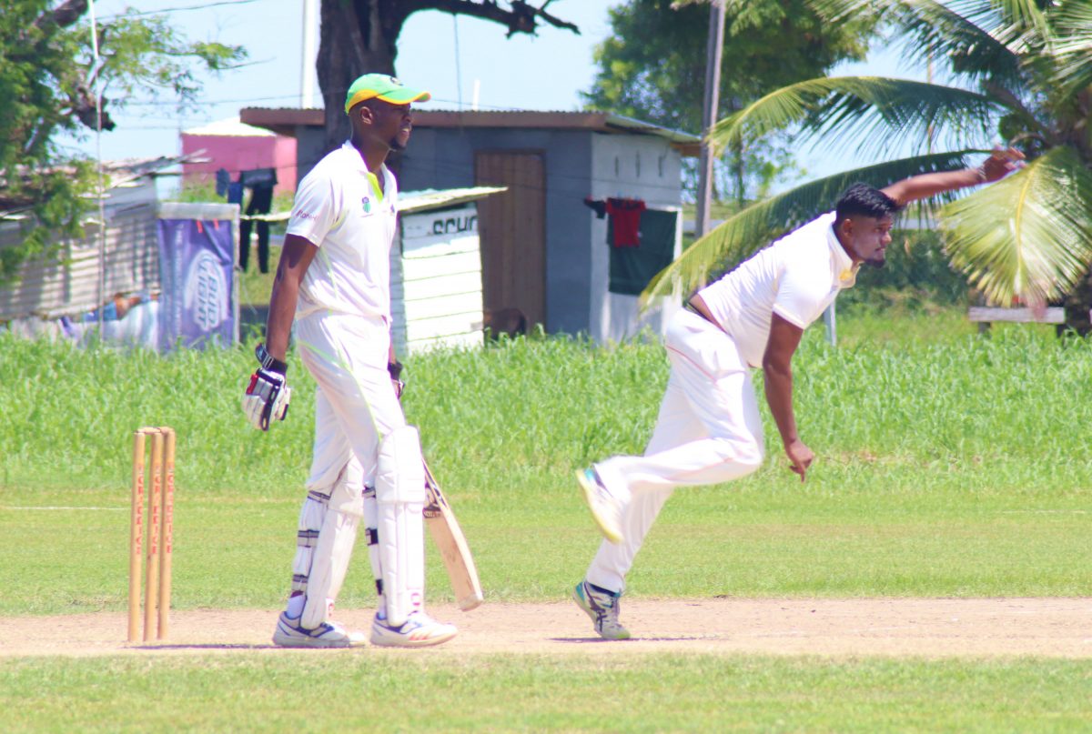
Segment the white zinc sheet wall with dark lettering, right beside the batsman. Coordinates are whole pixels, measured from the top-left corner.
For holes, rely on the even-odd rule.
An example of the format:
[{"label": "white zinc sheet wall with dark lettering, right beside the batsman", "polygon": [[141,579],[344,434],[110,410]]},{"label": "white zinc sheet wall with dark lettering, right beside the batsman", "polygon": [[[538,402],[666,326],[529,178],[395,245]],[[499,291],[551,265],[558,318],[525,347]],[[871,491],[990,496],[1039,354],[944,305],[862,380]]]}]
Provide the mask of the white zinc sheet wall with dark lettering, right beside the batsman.
[{"label": "white zinc sheet wall with dark lettering, right beside the batsman", "polygon": [[483,343],[477,208],[405,214],[391,248],[391,310],[401,354]]}]

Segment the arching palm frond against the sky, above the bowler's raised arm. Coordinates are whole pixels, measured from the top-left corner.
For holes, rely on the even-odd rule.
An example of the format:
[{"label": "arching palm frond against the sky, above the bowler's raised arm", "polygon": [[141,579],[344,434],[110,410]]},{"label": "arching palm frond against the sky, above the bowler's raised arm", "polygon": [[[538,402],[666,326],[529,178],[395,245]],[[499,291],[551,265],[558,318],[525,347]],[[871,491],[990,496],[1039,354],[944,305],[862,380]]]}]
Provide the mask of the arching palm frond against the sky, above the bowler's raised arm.
[{"label": "arching palm frond against the sky, above the bowler's raised arm", "polygon": [[986,121],[1002,109],[996,98],[941,84],[881,76],[820,78],[767,94],[713,126],[710,140],[724,150],[800,125],[802,142],[823,138],[840,141],[836,147],[855,141],[855,153],[874,157],[906,140],[916,141],[915,152],[924,151],[930,130],[943,131],[952,146],[978,147],[989,137]]}]

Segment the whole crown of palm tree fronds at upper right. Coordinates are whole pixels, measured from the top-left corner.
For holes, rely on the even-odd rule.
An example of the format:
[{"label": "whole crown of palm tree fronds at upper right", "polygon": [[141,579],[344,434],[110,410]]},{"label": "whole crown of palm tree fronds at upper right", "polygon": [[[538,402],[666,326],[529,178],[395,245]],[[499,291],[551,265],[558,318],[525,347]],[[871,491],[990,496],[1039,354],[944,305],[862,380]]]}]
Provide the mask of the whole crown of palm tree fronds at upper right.
[{"label": "whole crown of palm tree fronds at upper right", "polygon": [[[878,78],[812,79],[771,92],[717,123],[722,145],[803,127],[804,139],[882,157],[895,141],[916,151],[904,168],[923,166],[935,141],[962,157],[997,131],[1031,162],[1002,185],[938,211],[950,251],[993,303],[1057,297],[1085,281],[1092,189],[1092,139],[1087,131],[1087,82],[1092,79],[1092,3],[1031,0],[811,0],[831,23],[878,13],[899,34],[905,56],[948,62],[956,84],[943,86]],[[1038,161],[1042,158],[1042,161]],[[868,181],[876,166],[839,175]],[[886,182],[893,182],[889,179]],[[885,182],[879,182],[882,186]],[[877,183],[874,183],[877,185]],[[680,276],[696,282],[740,251],[756,249],[784,224],[786,206],[812,205],[815,189],[799,187],[776,206],[760,202],[728,220],[673,264],[660,288]],[[831,201],[830,203],[833,203]],[[939,202],[933,202],[939,203]],[[828,204],[829,206],[830,204]],[[1087,299],[1087,298],[1085,298]],[[1068,304],[1072,322],[1088,331],[1092,303]]]}]

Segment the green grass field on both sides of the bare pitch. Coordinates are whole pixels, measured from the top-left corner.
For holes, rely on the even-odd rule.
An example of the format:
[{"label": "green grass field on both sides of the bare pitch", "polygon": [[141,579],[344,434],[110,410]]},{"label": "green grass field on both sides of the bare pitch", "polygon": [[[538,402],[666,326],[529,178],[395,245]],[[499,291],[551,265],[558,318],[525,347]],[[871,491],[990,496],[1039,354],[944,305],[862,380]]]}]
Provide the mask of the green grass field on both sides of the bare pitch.
[{"label": "green grass field on both sides of the bare pitch", "polygon": [[[838,348],[815,329],[795,362],[802,434],[819,454],[807,483],[788,473],[768,419],[763,470],[677,493],[629,593],[1092,596],[1092,346],[1037,327],[983,339],[956,310],[892,320],[860,307],[839,329]],[[597,545],[571,472],[642,448],[662,348],[521,340],[406,362],[407,415],[487,599],[560,599]],[[138,425],[179,433],[176,608],[282,603],[312,391],[294,360],[288,421],[253,431],[238,413],[251,363],[246,348],[161,359],[0,335],[0,616],[123,608]],[[342,605],[370,603],[366,565],[358,554]],[[428,584],[446,599],[435,557]],[[323,679],[353,692],[307,719],[308,683]],[[0,702],[16,730],[353,730],[377,715],[360,688],[404,696],[411,680],[428,696],[379,715],[382,729],[1092,729],[1092,664],[1034,658],[9,659]],[[136,717],[159,683],[164,703]]]}]

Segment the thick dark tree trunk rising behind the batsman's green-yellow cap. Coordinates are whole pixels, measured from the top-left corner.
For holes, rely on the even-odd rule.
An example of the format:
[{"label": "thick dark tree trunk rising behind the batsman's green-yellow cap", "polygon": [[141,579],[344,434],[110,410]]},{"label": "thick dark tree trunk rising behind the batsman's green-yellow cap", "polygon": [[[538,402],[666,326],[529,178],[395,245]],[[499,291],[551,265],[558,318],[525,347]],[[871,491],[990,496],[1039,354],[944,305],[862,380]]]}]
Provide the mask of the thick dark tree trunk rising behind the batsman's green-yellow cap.
[{"label": "thick dark tree trunk rising behind the batsman's green-yellow cap", "polygon": [[[348,138],[345,92],[360,74],[394,74],[397,38],[408,13],[397,0],[322,0],[319,86],[325,107],[325,150]],[[400,8],[400,5],[402,8]]]}]

